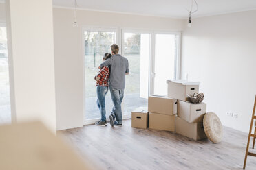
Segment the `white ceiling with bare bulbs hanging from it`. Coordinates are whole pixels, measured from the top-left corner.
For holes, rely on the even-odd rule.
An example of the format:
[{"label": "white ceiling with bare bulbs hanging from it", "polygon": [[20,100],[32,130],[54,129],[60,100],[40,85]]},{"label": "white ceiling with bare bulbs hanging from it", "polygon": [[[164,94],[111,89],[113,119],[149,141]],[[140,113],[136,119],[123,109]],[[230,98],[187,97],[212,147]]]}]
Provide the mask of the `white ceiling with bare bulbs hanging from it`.
[{"label": "white ceiling with bare bulbs hanging from it", "polygon": [[[256,0],[197,0],[193,17],[256,9]],[[78,8],[172,18],[187,18],[191,0],[77,0]],[[54,6],[74,8],[74,0],[53,0]],[[195,7],[195,5],[194,5]],[[195,8],[194,8],[195,9]]]}]

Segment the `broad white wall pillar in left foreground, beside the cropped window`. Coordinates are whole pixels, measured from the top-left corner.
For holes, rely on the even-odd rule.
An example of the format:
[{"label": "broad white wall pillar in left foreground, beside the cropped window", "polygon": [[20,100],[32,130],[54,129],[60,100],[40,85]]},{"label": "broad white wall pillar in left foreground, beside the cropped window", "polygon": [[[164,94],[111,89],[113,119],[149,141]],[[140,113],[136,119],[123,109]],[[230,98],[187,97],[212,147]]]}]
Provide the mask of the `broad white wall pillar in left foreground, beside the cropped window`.
[{"label": "broad white wall pillar in left foreground, beside the cropped window", "polygon": [[6,0],[12,114],[56,130],[52,0]]}]

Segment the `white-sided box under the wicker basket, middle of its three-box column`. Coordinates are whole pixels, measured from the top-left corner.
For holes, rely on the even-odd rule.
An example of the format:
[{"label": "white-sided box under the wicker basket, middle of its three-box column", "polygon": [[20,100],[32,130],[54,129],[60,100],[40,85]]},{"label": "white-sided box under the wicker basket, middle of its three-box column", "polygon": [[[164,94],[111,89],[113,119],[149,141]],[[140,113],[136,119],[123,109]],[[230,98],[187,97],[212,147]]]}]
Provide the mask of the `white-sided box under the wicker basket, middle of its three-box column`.
[{"label": "white-sided box under the wicker basket, middle of its three-box column", "polygon": [[206,104],[191,104],[185,101],[178,101],[178,117],[189,123],[202,122],[206,113]]}]

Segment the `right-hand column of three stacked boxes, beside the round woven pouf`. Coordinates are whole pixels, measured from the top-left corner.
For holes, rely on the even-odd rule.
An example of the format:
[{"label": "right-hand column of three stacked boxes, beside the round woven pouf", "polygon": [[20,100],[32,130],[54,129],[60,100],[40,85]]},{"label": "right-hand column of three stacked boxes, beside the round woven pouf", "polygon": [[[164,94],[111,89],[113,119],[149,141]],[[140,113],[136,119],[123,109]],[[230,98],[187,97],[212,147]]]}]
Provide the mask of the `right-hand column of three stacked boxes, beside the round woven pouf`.
[{"label": "right-hand column of three stacked boxes, beside the round woven pouf", "polygon": [[175,132],[200,140],[206,138],[203,127],[206,104],[191,104],[187,102],[188,95],[198,93],[200,82],[186,82],[184,80],[167,80],[168,97],[178,100],[178,116],[175,118]]}]

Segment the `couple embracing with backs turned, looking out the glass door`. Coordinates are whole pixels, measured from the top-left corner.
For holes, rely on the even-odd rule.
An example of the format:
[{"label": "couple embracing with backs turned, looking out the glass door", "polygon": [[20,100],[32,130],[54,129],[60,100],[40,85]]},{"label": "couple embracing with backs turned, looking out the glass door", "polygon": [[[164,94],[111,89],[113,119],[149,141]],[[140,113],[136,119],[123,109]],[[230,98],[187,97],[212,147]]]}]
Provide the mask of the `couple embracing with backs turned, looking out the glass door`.
[{"label": "couple embracing with backs turned, looking out the glass door", "polygon": [[111,45],[111,54],[105,53],[103,63],[99,66],[100,71],[94,77],[97,88],[97,105],[101,114],[100,121],[96,122],[95,125],[107,125],[105,95],[107,95],[108,90],[110,90],[111,99],[114,104],[109,115],[109,123],[111,126],[122,125],[121,103],[124,97],[125,75],[129,74],[129,63],[126,58],[118,54],[118,51],[118,45]]}]

